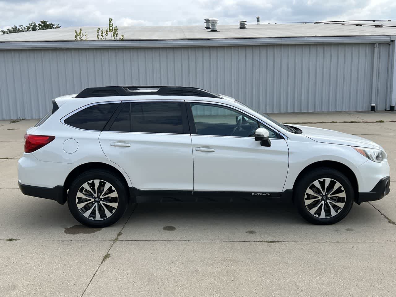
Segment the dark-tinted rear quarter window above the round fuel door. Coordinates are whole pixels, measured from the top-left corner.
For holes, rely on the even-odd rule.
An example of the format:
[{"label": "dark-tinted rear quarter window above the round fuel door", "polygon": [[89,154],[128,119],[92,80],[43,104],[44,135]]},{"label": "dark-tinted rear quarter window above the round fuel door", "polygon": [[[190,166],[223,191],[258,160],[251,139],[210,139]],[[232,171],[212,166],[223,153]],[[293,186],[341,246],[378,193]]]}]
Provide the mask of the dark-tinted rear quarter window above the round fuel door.
[{"label": "dark-tinted rear quarter window above the round fuel door", "polygon": [[65,124],[84,130],[102,131],[118,104],[120,103],[91,105],[69,116]]}]

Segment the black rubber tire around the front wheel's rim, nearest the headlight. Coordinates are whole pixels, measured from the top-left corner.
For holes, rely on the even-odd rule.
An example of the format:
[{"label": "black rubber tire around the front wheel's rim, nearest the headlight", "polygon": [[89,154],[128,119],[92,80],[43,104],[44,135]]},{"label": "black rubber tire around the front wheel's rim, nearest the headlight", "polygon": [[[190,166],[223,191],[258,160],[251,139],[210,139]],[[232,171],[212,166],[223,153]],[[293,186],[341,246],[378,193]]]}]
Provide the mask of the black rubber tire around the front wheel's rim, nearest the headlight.
[{"label": "black rubber tire around the front wheel's rim, nearest the headlight", "polygon": [[[326,195],[326,189],[324,189],[326,181],[324,179],[331,179],[333,181],[337,181],[339,184],[341,184],[342,188],[339,188],[340,192],[339,195],[345,196],[344,197],[338,197],[338,198],[328,198]],[[318,196],[320,196],[320,200],[318,200],[317,196],[312,196],[306,194],[306,191],[308,191],[308,187],[311,187],[314,189],[314,192],[319,192],[317,187],[312,187],[312,183],[314,183],[317,180],[321,180],[319,185],[322,187],[320,191],[324,193],[320,193]],[[330,192],[335,190],[336,186],[333,186],[334,188],[331,188],[333,182],[329,181],[330,184],[327,186],[327,190],[330,190]],[[336,184],[335,184],[336,185]],[[344,192],[342,192],[344,190]],[[315,193],[316,193],[315,192]],[[330,192],[328,192],[330,194]],[[345,194],[344,194],[345,193]],[[308,203],[308,199],[316,199],[315,201],[311,202],[311,204],[308,204],[308,206],[305,205],[306,201]],[[306,219],[308,222],[316,225],[330,225],[337,223],[341,221],[351,210],[353,202],[354,202],[354,189],[352,187],[352,184],[350,183],[349,179],[340,171],[332,169],[332,168],[317,168],[314,169],[297,181],[297,184],[295,186],[295,189],[293,191],[293,200],[294,204],[297,207],[299,213],[301,216]],[[345,203],[344,206],[340,209],[338,209],[338,206],[333,204],[333,200],[337,202]],[[318,206],[320,203],[322,203],[322,206]],[[327,204],[326,204],[327,203]],[[340,204],[340,205],[341,205]],[[329,207],[331,206],[331,207]],[[312,207],[312,208],[311,208]],[[318,207],[318,209],[315,211],[315,208]],[[311,208],[311,211],[314,211],[314,214],[310,213],[308,208]],[[331,208],[331,210],[330,210]],[[324,211],[324,216],[326,217],[320,217],[322,215],[322,209]],[[337,209],[337,210],[335,210]],[[333,211],[333,214],[331,213]],[[334,213],[336,213],[334,215]],[[331,216],[332,215],[332,216]],[[327,217],[328,216],[328,217]]]}]

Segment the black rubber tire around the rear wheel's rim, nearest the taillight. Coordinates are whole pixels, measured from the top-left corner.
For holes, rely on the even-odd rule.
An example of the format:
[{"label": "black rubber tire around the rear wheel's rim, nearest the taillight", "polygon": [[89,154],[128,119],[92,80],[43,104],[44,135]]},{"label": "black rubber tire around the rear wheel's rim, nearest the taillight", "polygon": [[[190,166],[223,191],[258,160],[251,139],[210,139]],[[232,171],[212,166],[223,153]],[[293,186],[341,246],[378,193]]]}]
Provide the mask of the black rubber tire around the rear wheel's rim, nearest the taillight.
[{"label": "black rubber tire around the rear wheel's rim, nearest the taillight", "polygon": [[[93,180],[100,180],[98,187],[95,187],[93,185],[94,184],[92,182]],[[93,187],[91,188],[91,192],[89,191],[87,192],[82,187],[86,183],[88,183],[88,185],[93,185]],[[106,183],[110,183],[111,187],[109,187],[109,190],[105,191],[104,193],[101,193],[101,191],[103,192],[103,190],[105,190]],[[110,197],[111,194],[105,194],[113,190],[115,190],[115,192],[112,193],[113,194],[112,196],[114,197]],[[99,195],[105,194],[105,195],[103,195],[104,198],[99,198],[102,200],[99,202],[95,202],[95,200],[89,202],[89,199],[93,199],[93,198],[77,198],[78,192],[80,193],[79,196],[81,197],[82,196],[81,194],[84,191],[86,193],[86,195],[84,196],[90,196],[92,193],[93,198],[98,198],[94,194],[99,194]],[[106,198],[107,195],[109,195],[108,198]],[[88,204],[86,204],[86,206],[82,208],[82,211],[80,211],[79,208],[77,207],[77,201],[76,201],[77,199],[79,200],[80,203],[79,206],[81,206],[82,204],[88,201]],[[111,202],[114,203],[111,204]],[[118,205],[116,205],[116,208],[114,209],[114,207],[110,206],[110,204],[115,205],[115,203],[118,203]],[[69,206],[70,212],[72,213],[73,217],[81,224],[86,225],[88,227],[97,227],[97,228],[107,227],[116,223],[124,214],[128,206],[127,188],[126,185],[123,183],[123,181],[121,181],[118,176],[114,175],[114,173],[110,171],[101,170],[101,169],[88,170],[81,173],[78,177],[76,177],[76,179],[70,185],[69,193],[67,195],[67,204]],[[95,206],[95,204],[97,206]],[[106,210],[104,209],[105,205],[106,205]],[[89,211],[91,207],[92,209],[91,211]],[[86,211],[84,212],[85,209]],[[96,219],[96,217],[93,218],[93,216],[96,215],[96,210],[98,210],[100,219]],[[85,217],[82,212],[86,213],[91,218]],[[103,219],[101,219],[102,217]]]}]

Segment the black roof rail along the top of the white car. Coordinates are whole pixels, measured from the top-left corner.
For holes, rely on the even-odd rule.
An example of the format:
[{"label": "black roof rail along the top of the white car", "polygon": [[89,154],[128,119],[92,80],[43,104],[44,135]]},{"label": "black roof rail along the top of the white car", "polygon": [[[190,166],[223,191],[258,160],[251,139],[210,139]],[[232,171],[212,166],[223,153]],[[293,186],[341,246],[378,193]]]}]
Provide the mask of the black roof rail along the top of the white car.
[{"label": "black roof rail along the top of the white car", "polygon": [[221,98],[218,95],[204,89],[177,86],[108,86],[98,88],[86,88],[82,90],[75,98],[133,95],[173,95]]}]

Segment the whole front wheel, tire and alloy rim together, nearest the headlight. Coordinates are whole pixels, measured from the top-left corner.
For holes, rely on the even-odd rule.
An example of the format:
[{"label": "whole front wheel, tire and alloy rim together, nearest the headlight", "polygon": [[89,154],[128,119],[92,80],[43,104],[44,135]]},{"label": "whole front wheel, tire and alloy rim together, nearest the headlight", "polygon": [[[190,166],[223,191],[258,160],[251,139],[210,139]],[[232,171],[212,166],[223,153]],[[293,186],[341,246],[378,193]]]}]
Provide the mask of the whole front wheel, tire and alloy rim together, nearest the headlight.
[{"label": "whole front wheel, tire and alloy rim together, nearest the headlight", "polygon": [[329,225],[341,221],[352,208],[354,190],[349,179],[332,168],[315,169],[299,179],[294,202],[308,222]]}]

